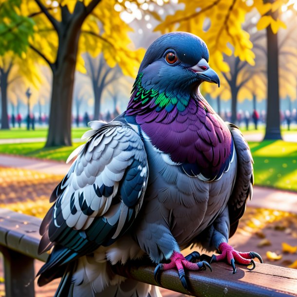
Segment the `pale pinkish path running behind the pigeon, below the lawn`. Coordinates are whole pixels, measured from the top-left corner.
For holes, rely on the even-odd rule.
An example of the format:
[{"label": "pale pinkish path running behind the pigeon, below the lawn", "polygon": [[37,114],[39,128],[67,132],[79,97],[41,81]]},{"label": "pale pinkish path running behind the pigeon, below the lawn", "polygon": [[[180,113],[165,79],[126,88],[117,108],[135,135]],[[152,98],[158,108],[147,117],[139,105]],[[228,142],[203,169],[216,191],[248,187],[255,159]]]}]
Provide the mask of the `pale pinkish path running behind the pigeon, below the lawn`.
[{"label": "pale pinkish path running behind the pigeon, below the lawn", "polygon": [[[47,174],[65,175],[70,164],[0,154],[0,167],[17,167]],[[297,213],[297,193],[254,186],[253,199],[248,205]]]}]

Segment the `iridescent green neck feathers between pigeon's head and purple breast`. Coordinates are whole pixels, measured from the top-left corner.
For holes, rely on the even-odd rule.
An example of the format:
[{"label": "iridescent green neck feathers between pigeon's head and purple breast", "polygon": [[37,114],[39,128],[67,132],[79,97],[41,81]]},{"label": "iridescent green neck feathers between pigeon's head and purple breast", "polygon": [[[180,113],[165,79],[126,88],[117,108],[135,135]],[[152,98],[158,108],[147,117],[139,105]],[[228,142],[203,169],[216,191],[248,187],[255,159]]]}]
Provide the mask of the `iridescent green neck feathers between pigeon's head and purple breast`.
[{"label": "iridescent green neck feathers between pigeon's head and purple breast", "polygon": [[183,90],[158,90],[154,87],[144,87],[142,83],[143,74],[139,74],[134,82],[127,112],[132,114],[160,112],[165,110],[171,112],[185,111],[189,104],[190,94]]}]

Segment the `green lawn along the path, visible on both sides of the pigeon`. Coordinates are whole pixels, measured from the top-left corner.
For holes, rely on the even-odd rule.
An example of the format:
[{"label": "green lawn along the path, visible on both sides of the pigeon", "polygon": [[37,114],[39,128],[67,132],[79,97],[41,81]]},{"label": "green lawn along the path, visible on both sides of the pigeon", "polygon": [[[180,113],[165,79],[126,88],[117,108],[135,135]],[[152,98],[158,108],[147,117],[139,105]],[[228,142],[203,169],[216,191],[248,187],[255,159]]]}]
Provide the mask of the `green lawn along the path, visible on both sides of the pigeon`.
[{"label": "green lawn along the path, visible on both sides of the pigeon", "polygon": [[[72,147],[43,148],[44,143],[0,145],[0,153],[66,161]],[[297,143],[278,141],[249,142],[254,158],[255,184],[297,191]]]}]

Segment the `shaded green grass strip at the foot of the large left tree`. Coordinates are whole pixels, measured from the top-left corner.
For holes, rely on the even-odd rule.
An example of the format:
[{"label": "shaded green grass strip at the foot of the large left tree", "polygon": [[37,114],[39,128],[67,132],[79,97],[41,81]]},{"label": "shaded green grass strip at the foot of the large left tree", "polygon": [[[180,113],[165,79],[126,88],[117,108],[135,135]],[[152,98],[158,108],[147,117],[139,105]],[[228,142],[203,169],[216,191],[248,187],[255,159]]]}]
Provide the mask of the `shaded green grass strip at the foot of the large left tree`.
[{"label": "shaded green grass strip at the foot of the large left tree", "polygon": [[48,159],[56,161],[66,161],[70,153],[81,143],[75,143],[72,147],[44,148],[43,142],[21,143],[21,144],[3,144],[0,145],[0,153],[22,155],[25,157],[34,157],[39,159]]}]

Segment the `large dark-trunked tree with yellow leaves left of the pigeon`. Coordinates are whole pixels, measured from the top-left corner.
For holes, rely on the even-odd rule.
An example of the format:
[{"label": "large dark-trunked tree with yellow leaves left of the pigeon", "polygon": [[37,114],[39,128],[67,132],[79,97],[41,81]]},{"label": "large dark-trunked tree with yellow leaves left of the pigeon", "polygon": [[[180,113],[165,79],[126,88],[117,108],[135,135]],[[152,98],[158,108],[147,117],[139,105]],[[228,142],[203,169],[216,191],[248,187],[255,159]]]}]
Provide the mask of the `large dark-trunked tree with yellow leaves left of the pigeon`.
[{"label": "large dark-trunked tree with yellow leaves left of the pigeon", "polygon": [[81,53],[103,52],[107,63],[134,73],[143,51],[130,46],[130,27],[108,0],[28,0],[22,15],[35,22],[30,48],[50,66],[53,73],[49,132],[46,146],[71,145],[71,111],[74,72],[85,72]]}]

